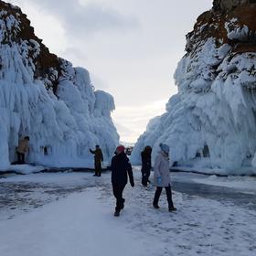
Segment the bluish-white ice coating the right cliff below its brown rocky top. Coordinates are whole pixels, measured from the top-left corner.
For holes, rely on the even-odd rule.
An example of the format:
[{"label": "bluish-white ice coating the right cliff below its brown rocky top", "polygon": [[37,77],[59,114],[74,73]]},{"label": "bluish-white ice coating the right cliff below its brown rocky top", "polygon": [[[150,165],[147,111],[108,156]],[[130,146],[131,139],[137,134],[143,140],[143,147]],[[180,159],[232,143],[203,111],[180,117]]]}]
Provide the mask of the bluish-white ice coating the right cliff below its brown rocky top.
[{"label": "bluish-white ice coating the right cliff below its brown rocky top", "polygon": [[[233,54],[216,39],[197,42],[176,68],[178,93],[134,146],[140,165],[145,145],[170,147],[170,165],[220,175],[255,175],[256,54]],[[193,47],[193,46],[192,46]]]}]

